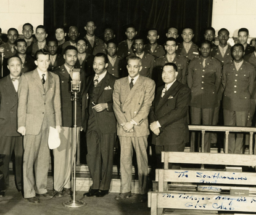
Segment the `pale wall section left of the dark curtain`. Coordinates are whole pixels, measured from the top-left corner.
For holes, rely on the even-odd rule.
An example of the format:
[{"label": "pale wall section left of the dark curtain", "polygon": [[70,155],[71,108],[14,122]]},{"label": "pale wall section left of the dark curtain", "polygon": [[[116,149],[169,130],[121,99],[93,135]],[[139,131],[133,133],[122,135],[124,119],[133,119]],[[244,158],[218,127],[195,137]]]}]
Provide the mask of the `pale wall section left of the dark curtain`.
[{"label": "pale wall section left of the dark curtain", "polygon": [[0,27],[2,33],[16,28],[22,34],[22,25],[31,23],[34,29],[43,25],[44,0],[0,0]]}]

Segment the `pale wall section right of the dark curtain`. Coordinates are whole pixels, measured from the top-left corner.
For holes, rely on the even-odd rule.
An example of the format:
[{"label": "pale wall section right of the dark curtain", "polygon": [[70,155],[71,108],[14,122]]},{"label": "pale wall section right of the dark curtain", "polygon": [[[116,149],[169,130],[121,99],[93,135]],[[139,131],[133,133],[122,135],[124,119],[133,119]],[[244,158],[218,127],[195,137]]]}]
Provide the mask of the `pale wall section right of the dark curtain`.
[{"label": "pale wall section right of the dark curtain", "polygon": [[256,37],[255,0],[213,0],[212,26],[228,29],[230,37],[237,37],[239,28],[249,29],[250,38]]}]

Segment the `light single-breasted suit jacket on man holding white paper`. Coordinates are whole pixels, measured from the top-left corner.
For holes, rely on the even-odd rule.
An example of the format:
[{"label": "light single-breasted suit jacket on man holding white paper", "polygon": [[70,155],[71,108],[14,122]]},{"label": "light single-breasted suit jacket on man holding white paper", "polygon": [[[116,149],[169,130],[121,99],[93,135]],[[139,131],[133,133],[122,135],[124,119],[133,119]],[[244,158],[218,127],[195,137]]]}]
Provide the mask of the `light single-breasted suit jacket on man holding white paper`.
[{"label": "light single-breasted suit jacket on man holding white paper", "polygon": [[20,77],[18,90],[18,128],[25,127],[27,135],[38,135],[43,121],[47,126],[61,125],[59,76],[48,72],[45,89],[35,69]]}]

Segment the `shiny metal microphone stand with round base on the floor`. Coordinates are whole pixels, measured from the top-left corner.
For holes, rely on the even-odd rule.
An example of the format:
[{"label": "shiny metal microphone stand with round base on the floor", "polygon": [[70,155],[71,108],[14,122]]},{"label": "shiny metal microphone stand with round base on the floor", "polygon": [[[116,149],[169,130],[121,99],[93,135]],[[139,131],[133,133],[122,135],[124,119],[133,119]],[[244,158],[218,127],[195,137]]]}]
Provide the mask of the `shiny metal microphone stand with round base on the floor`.
[{"label": "shiny metal microphone stand with round base on the floor", "polygon": [[75,199],[75,192],[76,192],[76,101],[77,101],[77,93],[80,92],[80,87],[81,87],[81,81],[78,82],[78,85],[73,85],[73,82],[71,81],[71,92],[74,93],[74,96],[72,98],[72,101],[74,101],[74,115],[75,115],[75,122],[74,122],[74,127],[73,127],[73,165],[74,165],[74,171],[73,171],[73,200],[70,201],[65,201],[63,205],[68,208],[80,208],[82,206],[85,206],[86,203],[81,200],[76,200]]}]

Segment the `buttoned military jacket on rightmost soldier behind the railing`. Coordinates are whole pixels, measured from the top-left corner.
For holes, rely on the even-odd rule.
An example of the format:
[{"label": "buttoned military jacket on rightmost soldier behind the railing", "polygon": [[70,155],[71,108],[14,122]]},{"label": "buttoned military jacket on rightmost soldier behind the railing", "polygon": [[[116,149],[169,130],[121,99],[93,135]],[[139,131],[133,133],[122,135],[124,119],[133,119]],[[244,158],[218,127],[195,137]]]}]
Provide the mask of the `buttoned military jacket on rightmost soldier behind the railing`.
[{"label": "buttoned military jacket on rightmost soldier behind the railing", "polygon": [[244,60],[239,71],[234,61],[223,66],[223,109],[249,111],[250,98],[254,98],[255,68]]}]

